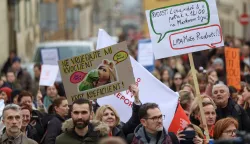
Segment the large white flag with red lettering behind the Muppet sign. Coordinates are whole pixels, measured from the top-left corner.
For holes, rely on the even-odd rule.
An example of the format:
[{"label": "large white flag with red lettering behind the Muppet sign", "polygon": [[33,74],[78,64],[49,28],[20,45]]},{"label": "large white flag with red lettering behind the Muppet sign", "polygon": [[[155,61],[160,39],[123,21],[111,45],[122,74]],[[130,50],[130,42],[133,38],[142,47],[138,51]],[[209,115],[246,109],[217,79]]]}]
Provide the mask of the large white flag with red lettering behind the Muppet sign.
[{"label": "large white flag with red lettering behind the Muppet sign", "polygon": [[[104,31],[99,30],[97,49],[107,47],[115,44],[110,36]],[[139,87],[139,97],[142,103],[154,102],[157,103],[163,115],[166,116],[164,120],[164,127],[168,129],[176,110],[178,103],[178,94],[169,89],[151,73],[149,73],[141,64],[130,56],[133,67],[136,84]],[[127,122],[132,115],[133,95],[127,91],[116,93],[114,95],[106,96],[97,99],[100,105],[112,105],[118,112],[121,121]]]}]

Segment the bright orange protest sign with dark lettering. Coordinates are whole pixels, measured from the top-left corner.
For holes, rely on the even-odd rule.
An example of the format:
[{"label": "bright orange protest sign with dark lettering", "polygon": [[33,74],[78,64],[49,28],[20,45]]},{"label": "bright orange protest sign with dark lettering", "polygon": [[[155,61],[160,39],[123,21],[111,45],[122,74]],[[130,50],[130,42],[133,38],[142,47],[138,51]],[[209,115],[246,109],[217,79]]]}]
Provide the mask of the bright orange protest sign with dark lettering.
[{"label": "bright orange protest sign with dark lettering", "polygon": [[227,85],[240,90],[240,50],[238,48],[225,48]]}]

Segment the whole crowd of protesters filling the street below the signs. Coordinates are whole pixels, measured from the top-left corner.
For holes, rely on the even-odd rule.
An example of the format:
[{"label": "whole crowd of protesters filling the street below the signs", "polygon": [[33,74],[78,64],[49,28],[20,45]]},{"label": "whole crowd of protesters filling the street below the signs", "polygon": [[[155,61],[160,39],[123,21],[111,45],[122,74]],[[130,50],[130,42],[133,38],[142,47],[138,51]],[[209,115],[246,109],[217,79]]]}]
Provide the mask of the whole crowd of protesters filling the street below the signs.
[{"label": "whole crowd of protesters filling the street below the signs", "polygon": [[[120,36],[120,41],[125,39]],[[131,55],[137,57],[137,42],[127,39]],[[0,79],[1,144],[205,144],[202,108],[214,140],[233,139],[237,131],[250,132],[250,46],[226,37],[225,45],[240,49],[241,89],[227,86],[224,47],[193,53],[201,99],[196,96],[187,55],[155,60],[152,74],[179,93],[179,103],[191,124],[183,131],[194,131],[187,139],[163,127],[165,115],[158,104],[141,103],[139,89],[134,95],[131,118],[122,122],[111,105],[78,99],[68,104],[61,85],[40,87],[41,65],[34,65],[35,78],[21,68],[21,59],[11,52]],[[1,103],[1,102],[0,102]]]}]

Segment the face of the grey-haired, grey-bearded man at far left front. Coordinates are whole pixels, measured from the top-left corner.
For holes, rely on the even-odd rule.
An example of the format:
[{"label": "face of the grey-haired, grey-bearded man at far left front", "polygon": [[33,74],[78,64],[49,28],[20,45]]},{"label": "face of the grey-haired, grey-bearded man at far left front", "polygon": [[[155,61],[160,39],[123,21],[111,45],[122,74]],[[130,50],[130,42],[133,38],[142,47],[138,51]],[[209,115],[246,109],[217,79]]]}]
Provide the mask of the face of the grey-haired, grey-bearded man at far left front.
[{"label": "face of the grey-haired, grey-bearded man at far left front", "polygon": [[12,109],[4,112],[3,124],[8,134],[16,134],[20,132],[22,126],[21,113]]}]

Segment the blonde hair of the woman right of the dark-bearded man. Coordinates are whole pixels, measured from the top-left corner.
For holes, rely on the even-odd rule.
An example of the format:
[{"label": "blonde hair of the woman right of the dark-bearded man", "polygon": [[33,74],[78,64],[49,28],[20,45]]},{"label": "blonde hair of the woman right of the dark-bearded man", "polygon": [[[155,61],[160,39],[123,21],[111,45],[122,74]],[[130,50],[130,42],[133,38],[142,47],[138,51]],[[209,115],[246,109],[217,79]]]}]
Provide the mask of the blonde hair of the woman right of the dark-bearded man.
[{"label": "blonde hair of the woman right of the dark-bearded man", "polygon": [[102,117],[103,117],[104,112],[106,111],[106,109],[109,109],[114,113],[115,118],[116,118],[115,126],[118,126],[120,124],[120,117],[119,117],[117,111],[111,105],[103,105],[103,106],[99,107],[97,109],[97,111],[96,111],[95,119],[99,120],[99,121],[102,121]]}]

